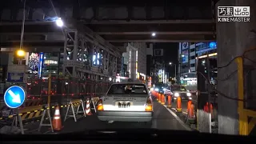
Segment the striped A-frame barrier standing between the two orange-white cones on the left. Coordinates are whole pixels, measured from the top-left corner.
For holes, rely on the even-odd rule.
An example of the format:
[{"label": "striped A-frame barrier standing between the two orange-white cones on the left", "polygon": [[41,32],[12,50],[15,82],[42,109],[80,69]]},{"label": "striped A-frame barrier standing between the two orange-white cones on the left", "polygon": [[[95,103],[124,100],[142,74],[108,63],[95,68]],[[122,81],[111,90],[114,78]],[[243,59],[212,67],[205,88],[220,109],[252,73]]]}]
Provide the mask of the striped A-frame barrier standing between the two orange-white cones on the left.
[{"label": "striped A-frame barrier standing between the two orange-white cones on the left", "polygon": [[[82,106],[82,111],[79,111],[81,106]],[[70,108],[71,108],[71,111],[70,111]],[[86,117],[85,106],[82,99],[70,100],[69,105],[66,109],[64,122],[66,121],[67,118],[74,118],[74,122],[77,122],[78,118],[82,118],[82,116],[78,115],[81,113],[83,114],[84,117]]]}]

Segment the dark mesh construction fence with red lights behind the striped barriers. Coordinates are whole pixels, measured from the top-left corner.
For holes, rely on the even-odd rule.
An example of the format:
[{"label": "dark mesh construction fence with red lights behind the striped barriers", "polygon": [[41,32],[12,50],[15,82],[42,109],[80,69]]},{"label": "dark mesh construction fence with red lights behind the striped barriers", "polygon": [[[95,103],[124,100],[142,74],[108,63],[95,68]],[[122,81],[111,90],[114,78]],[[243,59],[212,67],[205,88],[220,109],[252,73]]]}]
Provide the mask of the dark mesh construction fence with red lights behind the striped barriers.
[{"label": "dark mesh construction fence with red lights behind the striped barriers", "polygon": [[[29,78],[27,83],[15,84],[16,86],[22,86],[26,90],[26,102],[20,109],[33,108],[34,106],[62,106],[60,110],[62,115],[65,115],[67,107],[70,105],[70,101],[74,99],[81,99],[86,101],[89,99],[97,99],[102,94],[106,94],[112,82],[93,80],[93,79],[70,79],[70,78]],[[8,87],[14,86],[14,84],[6,83],[3,92]],[[48,89],[50,87],[50,89]],[[0,97],[0,121],[3,125],[10,123],[10,118],[17,114],[17,110],[10,109],[3,101],[3,94]],[[94,102],[95,103],[95,102]],[[92,103],[90,103],[92,107]],[[40,109],[42,110],[42,109]],[[39,111],[40,111],[39,110]],[[32,110],[33,111],[33,110]],[[42,112],[42,111],[41,111]],[[29,112],[31,113],[31,112]],[[39,112],[37,112],[39,113]],[[54,109],[50,109],[49,113],[54,114]],[[40,114],[34,113],[37,117]],[[41,113],[42,114],[42,113]],[[30,115],[31,116],[31,115]],[[26,122],[34,121],[34,116],[27,118]]]}]

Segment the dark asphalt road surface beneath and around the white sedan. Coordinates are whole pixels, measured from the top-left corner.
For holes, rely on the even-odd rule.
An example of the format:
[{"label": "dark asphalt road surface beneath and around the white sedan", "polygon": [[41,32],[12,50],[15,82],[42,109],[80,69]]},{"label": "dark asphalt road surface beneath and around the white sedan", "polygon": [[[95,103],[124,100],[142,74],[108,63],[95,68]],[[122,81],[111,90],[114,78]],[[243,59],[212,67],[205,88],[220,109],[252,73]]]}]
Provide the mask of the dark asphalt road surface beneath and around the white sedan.
[{"label": "dark asphalt road surface beneath and around the white sedan", "polygon": [[[182,103],[182,106],[186,106],[186,102]],[[154,101],[154,118],[152,125],[148,125],[145,122],[101,122],[98,120],[95,114],[86,116],[86,118],[79,118],[77,122],[74,122],[73,118],[68,118],[66,122],[62,123],[64,126],[63,129],[60,131],[54,131],[54,133],[52,133],[47,126],[42,127],[41,132],[38,132],[38,125],[38,122],[26,125],[25,129],[27,130],[25,131],[25,134],[62,134],[84,130],[137,128],[155,128],[159,130],[190,130],[190,128],[186,126],[186,124],[184,124],[172,110],[166,108],[166,106],[163,106],[156,101]]]}]

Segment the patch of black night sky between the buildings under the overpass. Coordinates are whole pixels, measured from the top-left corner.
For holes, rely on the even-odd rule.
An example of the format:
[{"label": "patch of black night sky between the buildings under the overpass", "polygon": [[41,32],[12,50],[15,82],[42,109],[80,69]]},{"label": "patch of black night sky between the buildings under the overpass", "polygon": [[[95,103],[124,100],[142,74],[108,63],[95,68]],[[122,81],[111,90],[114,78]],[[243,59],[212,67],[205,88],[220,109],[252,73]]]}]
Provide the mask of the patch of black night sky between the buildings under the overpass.
[{"label": "patch of black night sky between the buildings under the overpass", "polygon": [[178,42],[155,43],[154,47],[156,49],[163,49],[162,60],[165,61],[165,63],[167,64],[166,66],[167,66],[167,71],[169,72],[169,76],[174,77],[175,69],[174,69],[174,66],[169,66],[169,62],[176,63],[176,65],[178,66]]}]

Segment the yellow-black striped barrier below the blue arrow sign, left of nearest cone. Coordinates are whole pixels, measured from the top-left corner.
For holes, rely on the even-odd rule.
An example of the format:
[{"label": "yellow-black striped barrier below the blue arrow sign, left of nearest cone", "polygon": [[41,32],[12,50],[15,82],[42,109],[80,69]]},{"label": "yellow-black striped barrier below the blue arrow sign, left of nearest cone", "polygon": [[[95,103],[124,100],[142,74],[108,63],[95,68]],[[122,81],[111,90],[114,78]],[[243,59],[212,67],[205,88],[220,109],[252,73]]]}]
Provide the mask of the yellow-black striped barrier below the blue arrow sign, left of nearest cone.
[{"label": "yellow-black striped barrier below the blue arrow sign, left of nearest cone", "polygon": [[[24,129],[23,129],[23,121],[26,121],[28,119],[32,119],[32,118],[41,118],[41,122],[45,119],[46,116],[46,112],[48,115],[48,119],[50,120],[50,111],[47,109],[44,109],[43,106],[30,106],[30,107],[24,107],[24,108],[20,108],[17,109],[17,114],[12,115],[13,122],[11,124],[11,127],[18,126],[21,129],[22,134],[24,134]],[[41,126],[45,126],[45,125],[39,125],[39,128],[41,128]],[[49,126],[49,125],[47,125]],[[51,126],[51,125],[50,125]],[[38,129],[40,130],[40,129]]]}]

